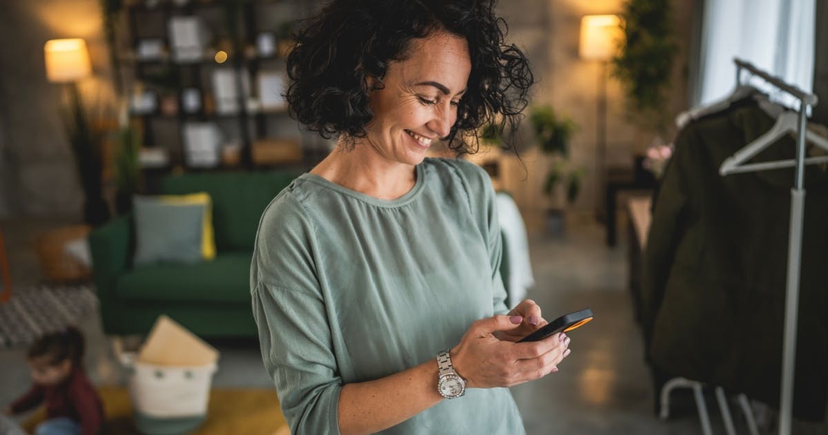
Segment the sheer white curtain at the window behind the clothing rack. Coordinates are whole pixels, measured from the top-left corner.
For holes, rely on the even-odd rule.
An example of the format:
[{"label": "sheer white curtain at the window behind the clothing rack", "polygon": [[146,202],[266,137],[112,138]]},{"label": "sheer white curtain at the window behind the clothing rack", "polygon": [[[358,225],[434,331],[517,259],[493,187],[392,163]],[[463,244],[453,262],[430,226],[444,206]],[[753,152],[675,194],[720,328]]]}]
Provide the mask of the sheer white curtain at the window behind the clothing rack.
[{"label": "sheer white curtain at the window behind the clothing rack", "polygon": [[[705,0],[700,65],[693,105],[733,91],[734,57],[747,60],[800,89],[813,89],[816,0]],[[761,79],[743,76],[782,104],[795,99]]]}]

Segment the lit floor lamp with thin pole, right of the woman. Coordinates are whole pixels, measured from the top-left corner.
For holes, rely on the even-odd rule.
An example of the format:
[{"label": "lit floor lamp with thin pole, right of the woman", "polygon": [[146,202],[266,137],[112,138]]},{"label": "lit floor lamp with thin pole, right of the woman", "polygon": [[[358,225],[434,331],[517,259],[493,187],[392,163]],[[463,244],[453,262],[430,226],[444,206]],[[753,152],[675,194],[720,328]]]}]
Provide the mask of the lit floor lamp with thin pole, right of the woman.
[{"label": "lit floor lamp with thin pole, right of the woman", "polygon": [[617,15],[585,15],[580,20],[580,41],[578,54],[581,59],[598,61],[598,110],[595,118],[595,214],[601,218],[607,212],[600,212],[606,184],[607,152],[607,66],[618,52],[618,43],[623,33],[621,18]]}]

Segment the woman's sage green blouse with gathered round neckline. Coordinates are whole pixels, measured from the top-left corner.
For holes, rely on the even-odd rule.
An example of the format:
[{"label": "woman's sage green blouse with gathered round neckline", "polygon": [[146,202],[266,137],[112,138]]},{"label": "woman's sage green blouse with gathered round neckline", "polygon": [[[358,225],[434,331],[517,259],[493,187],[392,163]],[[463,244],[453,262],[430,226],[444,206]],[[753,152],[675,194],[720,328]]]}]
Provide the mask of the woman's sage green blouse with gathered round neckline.
[{"label": "woman's sage green blouse with gathered round neckline", "polygon": [[[393,201],[296,178],[262,214],[250,269],[262,359],[291,433],[339,433],[343,384],[436,365],[473,321],[507,312],[500,254],[494,191],[473,163],[426,158]],[[508,389],[469,389],[383,433],[524,429]]]}]

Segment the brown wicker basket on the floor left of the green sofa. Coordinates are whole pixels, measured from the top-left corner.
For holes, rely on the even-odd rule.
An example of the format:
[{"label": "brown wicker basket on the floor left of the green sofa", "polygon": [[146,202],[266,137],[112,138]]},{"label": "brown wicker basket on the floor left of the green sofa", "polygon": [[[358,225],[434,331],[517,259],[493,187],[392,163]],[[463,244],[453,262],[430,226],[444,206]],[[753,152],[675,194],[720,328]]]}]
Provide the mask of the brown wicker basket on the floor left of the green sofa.
[{"label": "brown wicker basket on the floor left of the green sofa", "polygon": [[91,278],[91,269],[66,253],[65,249],[67,243],[85,239],[89,230],[89,225],[67,226],[47,231],[37,238],[37,257],[46,280],[53,283],[75,283]]}]

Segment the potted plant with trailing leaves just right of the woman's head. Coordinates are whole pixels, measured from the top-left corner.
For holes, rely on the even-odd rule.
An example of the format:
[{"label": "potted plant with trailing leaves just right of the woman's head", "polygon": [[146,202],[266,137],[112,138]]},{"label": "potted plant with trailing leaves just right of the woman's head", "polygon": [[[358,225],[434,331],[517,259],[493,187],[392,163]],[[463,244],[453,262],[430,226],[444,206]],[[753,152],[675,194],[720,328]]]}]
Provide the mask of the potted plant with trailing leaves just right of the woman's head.
[{"label": "potted plant with trailing leaves just right of the woman's head", "polygon": [[566,221],[566,206],[578,198],[581,180],[586,173],[583,167],[573,167],[569,160],[570,139],[578,127],[571,118],[556,114],[548,105],[532,108],[529,120],[537,145],[549,162],[543,183],[543,193],[549,204],[547,226],[552,234],[561,235]]}]

